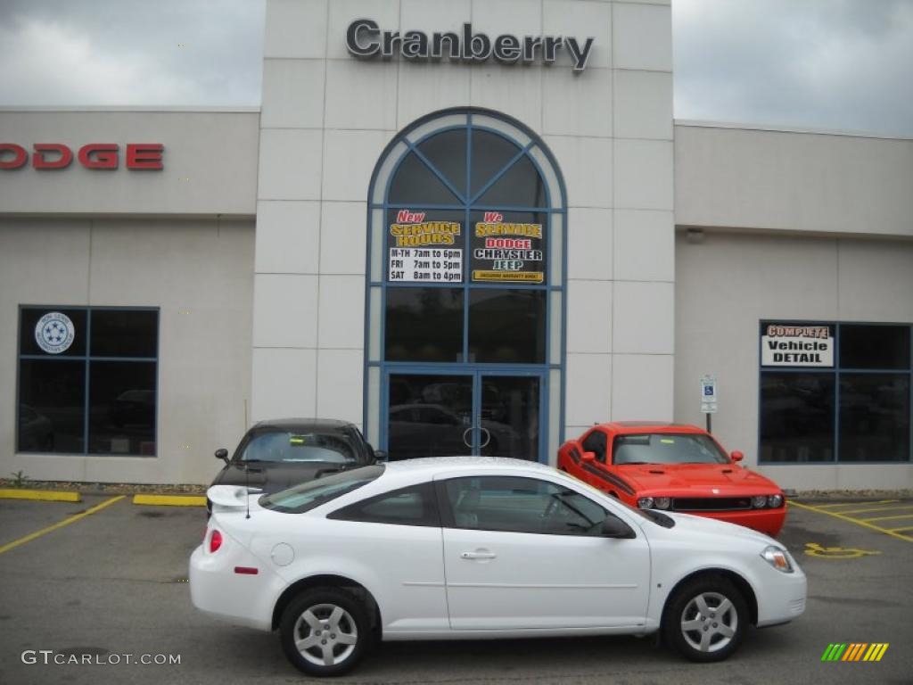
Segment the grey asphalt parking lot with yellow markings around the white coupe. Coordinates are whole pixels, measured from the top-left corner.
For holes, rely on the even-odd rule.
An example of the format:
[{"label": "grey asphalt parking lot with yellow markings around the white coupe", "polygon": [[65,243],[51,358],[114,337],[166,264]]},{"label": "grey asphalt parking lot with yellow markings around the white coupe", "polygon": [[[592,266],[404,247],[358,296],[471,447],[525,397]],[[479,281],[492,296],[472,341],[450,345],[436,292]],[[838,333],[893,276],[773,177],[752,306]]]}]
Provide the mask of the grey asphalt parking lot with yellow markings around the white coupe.
[{"label": "grey asphalt parking lot with yellow markings around the white coupe", "polygon": [[[80,513],[87,515],[26,539]],[[651,638],[387,643],[339,681],[910,683],[908,526],[913,501],[792,506],[780,539],[809,576],[806,613],[750,631],[723,663],[681,661]],[[187,559],[204,528],[200,508],[138,506],[129,497],[0,500],[0,682],[306,680],[277,636],[221,624],[191,606]],[[835,643],[889,647],[876,663],[823,662]]]}]

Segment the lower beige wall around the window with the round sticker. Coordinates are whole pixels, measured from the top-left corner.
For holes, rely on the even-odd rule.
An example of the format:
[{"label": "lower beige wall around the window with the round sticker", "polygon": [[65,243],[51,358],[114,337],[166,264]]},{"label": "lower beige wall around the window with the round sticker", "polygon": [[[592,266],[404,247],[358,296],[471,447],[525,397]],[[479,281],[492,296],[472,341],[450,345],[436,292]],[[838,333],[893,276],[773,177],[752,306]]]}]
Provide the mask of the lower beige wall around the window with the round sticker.
[{"label": "lower beige wall around the window with the round sticker", "polygon": [[[0,472],[208,483],[249,414],[253,250],[249,219],[0,218]],[[16,455],[27,304],[161,308],[157,457]]]}]

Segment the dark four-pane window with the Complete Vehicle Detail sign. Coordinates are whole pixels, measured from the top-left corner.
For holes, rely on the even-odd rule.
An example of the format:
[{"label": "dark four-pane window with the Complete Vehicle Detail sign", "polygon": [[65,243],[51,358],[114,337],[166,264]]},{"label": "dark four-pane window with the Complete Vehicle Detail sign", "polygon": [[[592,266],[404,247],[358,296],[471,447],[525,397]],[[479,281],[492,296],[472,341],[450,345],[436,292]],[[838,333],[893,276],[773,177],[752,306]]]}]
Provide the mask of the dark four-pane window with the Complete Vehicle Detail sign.
[{"label": "dark four-pane window with the Complete Vehicle Detail sign", "polygon": [[[759,450],[762,464],[903,463],[913,446],[913,326],[855,321],[761,321],[808,328],[830,339],[761,347]],[[826,331],[826,335],[825,332]],[[813,341],[813,336],[794,339]],[[826,349],[826,348],[824,348]],[[801,356],[803,355],[804,356]],[[782,364],[782,365],[774,365]]]}]

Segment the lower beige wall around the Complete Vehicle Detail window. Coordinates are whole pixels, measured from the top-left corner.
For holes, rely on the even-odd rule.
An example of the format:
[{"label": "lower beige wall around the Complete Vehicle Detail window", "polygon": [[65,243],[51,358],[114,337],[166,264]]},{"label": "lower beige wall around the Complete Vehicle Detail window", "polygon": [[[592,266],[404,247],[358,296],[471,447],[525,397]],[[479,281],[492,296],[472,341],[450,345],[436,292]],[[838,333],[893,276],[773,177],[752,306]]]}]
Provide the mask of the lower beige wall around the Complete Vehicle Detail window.
[{"label": "lower beige wall around the Complete Vehicle Detail window", "polygon": [[[699,378],[717,377],[713,431],[757,464],[761,319],[913,322],[913,241],[684,232],[676,244],[676,418],[704,425]],[[913,487],[913,465],[769,465],[784,488]]]}]

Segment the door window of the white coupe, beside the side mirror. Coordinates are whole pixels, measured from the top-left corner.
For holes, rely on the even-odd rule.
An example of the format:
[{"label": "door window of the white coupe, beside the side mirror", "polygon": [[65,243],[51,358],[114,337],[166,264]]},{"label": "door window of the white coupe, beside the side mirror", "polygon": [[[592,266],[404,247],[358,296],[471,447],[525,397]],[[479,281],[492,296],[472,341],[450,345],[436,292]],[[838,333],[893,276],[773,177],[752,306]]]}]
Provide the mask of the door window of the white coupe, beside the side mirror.
[{"label": "door window of the white coupe, beside the side mirror", "polygon": [[443,481],[446,525],[479,531],[599,535],[608,512],[547,480],[478,476]]}]

